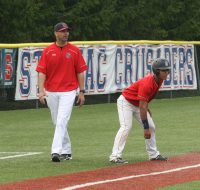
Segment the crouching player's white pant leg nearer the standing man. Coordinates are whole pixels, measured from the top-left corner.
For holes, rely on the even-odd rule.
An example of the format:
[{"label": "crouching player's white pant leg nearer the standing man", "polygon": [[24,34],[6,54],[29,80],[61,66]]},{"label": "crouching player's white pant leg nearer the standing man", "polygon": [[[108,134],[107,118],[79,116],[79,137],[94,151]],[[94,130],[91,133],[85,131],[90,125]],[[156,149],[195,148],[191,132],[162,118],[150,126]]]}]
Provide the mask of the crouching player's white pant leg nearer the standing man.
[{"label": "crouching player's white pant leg nearer the standing man", "polygon": [[122,157],[129,131],[132,127],[132,105],[121,95],[117,100],[120,128],[115,137],[110,160]]}]

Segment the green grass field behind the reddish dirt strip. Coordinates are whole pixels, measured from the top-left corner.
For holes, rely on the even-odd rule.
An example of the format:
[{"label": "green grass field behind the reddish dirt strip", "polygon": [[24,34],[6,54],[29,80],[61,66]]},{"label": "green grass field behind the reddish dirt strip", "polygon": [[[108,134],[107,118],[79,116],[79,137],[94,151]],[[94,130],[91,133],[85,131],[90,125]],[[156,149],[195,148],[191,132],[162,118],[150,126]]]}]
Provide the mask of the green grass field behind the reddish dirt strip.
[{"label": "green grass field behind the reddish dirt strip", "polygon": [[[174,156],[199,151],[200,97],[154,100],[150,109],[161,153]],[[118,128],[116,104],[75,107],[69,123],[73,160],[52,163],[50,149],[54,128],[49,110],[1,111],[0,152],[43,153],[0,160],[0,183],[112,167],[108,157]],[[3,156],[0,153],[0,157]],[[143,130],[136,122],[123,157],[129,163],[148,159]]]}]

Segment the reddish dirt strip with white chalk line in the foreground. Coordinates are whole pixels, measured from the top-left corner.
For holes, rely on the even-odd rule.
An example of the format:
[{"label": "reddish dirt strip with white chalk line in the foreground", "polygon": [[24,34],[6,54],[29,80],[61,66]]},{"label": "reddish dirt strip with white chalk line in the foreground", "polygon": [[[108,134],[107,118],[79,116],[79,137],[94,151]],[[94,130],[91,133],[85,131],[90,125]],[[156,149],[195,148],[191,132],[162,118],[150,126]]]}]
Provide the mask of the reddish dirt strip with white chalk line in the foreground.
[{"label": "reddish dirt strip with white chalk line in the foreground", "polygon": [[200,180],[200,153],[0,185],[0,190],[153,190]]}]

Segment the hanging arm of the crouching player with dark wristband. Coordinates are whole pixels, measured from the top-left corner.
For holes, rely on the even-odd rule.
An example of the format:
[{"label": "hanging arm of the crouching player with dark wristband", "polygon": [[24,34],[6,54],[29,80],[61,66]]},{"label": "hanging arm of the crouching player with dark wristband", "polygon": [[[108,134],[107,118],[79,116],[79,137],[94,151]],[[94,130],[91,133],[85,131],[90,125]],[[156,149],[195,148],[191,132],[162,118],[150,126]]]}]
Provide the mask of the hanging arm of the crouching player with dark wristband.
[{"label": "hanging arm of the crouching player with dark wristband", "polygon": [[150,139],[151,138],[151,132],[149,130],[149,123],[147,120],[147,112],[148,112],[148,102],[140,100],[139,102],[139,108],[140,108],[140,117],[144,126],[144,138]]}]

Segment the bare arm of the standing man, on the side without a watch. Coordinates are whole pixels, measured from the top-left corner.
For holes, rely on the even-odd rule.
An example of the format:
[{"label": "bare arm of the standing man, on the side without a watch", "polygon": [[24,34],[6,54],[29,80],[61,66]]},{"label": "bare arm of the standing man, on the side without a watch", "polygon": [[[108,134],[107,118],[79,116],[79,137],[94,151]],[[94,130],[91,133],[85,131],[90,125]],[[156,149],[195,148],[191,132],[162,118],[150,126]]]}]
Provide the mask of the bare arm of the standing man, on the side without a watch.
[{"label": "bare arm of the standing man, on the side without a watch", "polygon": [[39,100],[42,104],[45,104],[46,92],[44,89],[44,82],[46,80],[46,75],[44,73],[38,73],[38,87],[39,87]]}]

